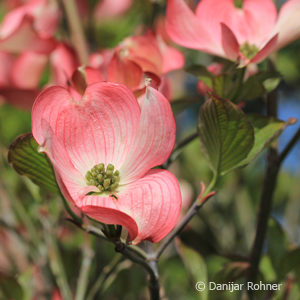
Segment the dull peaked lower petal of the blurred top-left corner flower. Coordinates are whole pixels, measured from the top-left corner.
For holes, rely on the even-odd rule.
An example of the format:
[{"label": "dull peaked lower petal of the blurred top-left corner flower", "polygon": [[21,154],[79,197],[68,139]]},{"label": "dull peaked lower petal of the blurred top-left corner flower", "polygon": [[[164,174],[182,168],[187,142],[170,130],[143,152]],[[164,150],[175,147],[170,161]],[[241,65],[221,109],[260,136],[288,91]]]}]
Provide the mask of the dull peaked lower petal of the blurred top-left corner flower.
[{"label": "dull peaked lower petal of the blurred top-left corner flower", "polygon": [[56,42],[52,38],[40,37],[33,26],[32,17],[25,16],[15,31],[0,40],[0,51],[35,51],[44,54],[51,52]]}]

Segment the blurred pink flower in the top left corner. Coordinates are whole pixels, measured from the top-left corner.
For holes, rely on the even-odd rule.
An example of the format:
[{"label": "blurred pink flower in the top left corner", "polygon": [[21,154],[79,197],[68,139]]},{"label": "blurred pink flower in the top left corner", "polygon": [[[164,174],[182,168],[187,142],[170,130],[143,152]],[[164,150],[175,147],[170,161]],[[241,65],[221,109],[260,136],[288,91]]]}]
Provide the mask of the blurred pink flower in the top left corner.
[{"label": "blurred pink flower in the top left corner", "polygon": [[0,25],[0,51],[49,53],[60,12],[55,1],[30,0],[7,13]]}]

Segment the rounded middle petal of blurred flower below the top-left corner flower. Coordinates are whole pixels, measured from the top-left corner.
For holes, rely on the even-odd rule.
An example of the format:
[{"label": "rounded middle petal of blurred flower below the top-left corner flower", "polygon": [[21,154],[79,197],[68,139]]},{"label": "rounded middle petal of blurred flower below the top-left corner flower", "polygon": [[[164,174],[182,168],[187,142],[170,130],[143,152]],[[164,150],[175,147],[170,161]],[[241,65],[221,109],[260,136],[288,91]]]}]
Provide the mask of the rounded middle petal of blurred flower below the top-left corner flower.
[{"label": "rounded middle petal of blurred flower below the top-left corner flower", "polygon": [[47,64],[48,57],[35,52],[23,52],[15,60],[11,70],[11,82],[23,89],[36,89]]}]

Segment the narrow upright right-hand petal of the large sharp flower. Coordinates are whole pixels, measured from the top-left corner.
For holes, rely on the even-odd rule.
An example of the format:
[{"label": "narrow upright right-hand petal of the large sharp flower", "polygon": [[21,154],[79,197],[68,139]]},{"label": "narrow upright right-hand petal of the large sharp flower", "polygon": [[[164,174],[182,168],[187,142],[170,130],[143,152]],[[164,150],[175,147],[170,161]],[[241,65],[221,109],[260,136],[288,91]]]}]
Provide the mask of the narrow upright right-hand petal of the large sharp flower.
[{"label": "narrow upright right-hand petal of the large sharp flower", "polygon": [[143,176],[164,163],[175,143],[176,125],[169,101],[157,90],[147,87],[135,143],[122,166],[122,183]]}]

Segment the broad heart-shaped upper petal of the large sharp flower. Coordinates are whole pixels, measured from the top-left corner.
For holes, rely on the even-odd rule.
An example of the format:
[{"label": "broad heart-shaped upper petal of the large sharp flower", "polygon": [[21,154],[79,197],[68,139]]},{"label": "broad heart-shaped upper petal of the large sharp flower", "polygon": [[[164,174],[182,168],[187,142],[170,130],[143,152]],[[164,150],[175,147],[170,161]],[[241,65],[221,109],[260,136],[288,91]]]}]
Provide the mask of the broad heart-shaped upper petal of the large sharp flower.
[{"label": "broad heart-shaped upper petal of the large sharp flower", "polygon": [[74,168],[84,177],[99,163],[112,163],[120,169],[134,143],[139,118],[137,100],[123,85],[91,84],[78,102],[67,89],[56,86],[36,99],[32,132],[43,145],[47,136],[42,122],[47,122]]}]

